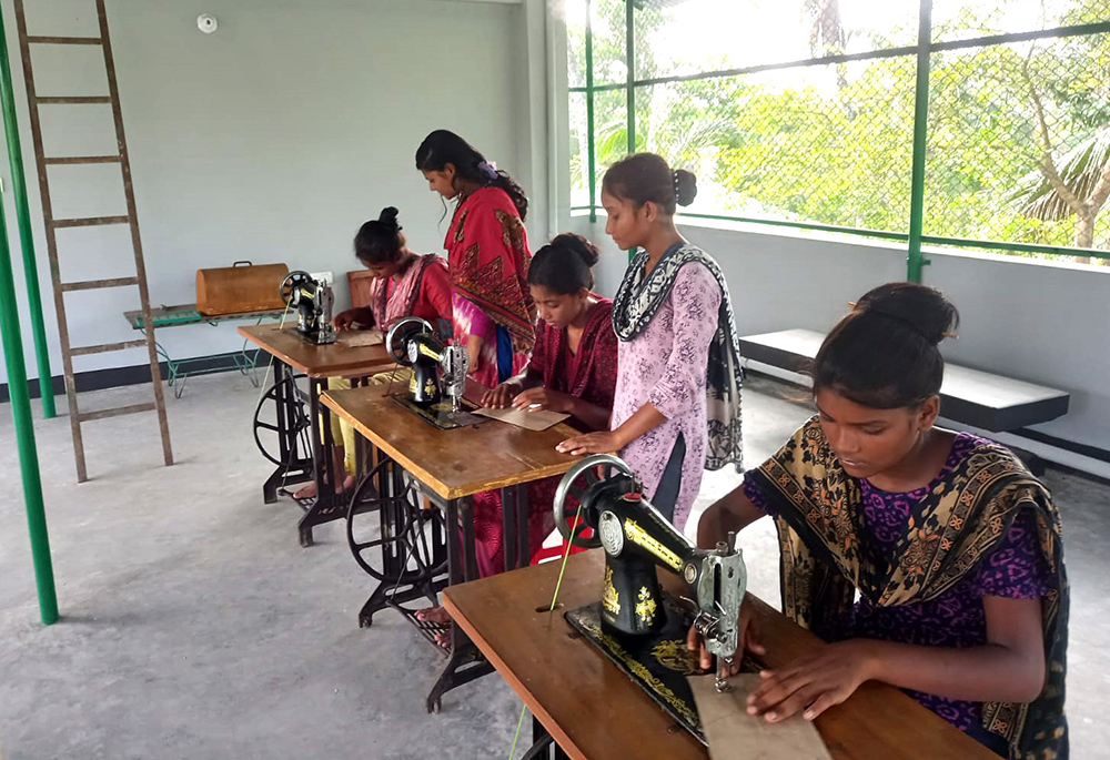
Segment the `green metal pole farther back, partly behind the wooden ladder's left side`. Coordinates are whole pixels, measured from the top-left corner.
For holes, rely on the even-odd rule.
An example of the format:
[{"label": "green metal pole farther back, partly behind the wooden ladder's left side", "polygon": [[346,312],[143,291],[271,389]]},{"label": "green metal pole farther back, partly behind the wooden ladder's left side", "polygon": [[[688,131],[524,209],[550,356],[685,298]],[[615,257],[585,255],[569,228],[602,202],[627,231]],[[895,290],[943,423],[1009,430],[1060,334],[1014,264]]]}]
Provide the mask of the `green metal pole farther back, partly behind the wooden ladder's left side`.
[{"label": "green metal pole farther back, partly behind the wooden ladder's left side", "polygon": [[[31,212],[27,204],[27,180],[23,178],[23,151],[19,145],[19,122],[16,120],[16,98],[11,87],[11,63],[8,60],[8,37],[0,13],[0,105],[3,108],[3,128],[8,135],[8,162],[11,164],[11,185],[16,196],[16,219],[19,223],[19,242],[23,249],[23,277],[27,280],[27,304],[31,312],[31,335],[34,336],[34,358],[39,366],[39,394],[42,396],[42,416],[52,419],[54,412],[54,384],[50,373],[50,354],[47,349],[47,328],[42,322],[42,295],[39,292],[39,267],[34,261],[34,236],[31,232]],[[8,374],[9,383],[11,373]]]}]

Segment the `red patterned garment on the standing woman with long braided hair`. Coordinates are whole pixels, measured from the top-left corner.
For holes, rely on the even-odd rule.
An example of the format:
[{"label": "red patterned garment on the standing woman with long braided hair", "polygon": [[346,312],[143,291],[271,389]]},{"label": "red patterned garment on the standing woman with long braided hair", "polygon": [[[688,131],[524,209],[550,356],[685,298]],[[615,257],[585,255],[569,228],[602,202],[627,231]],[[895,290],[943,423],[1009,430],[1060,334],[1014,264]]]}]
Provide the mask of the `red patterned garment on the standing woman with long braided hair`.
[{"label": "red patterned garment on the standing woman with long braided hair", "polygon": [[535,343],[528,291],[532,253],[516,206],[500,188],[482,188],[458,204],[444,241],[451,266],[455,342],[482,338],[471,377],[486,387],[517,374]]}]

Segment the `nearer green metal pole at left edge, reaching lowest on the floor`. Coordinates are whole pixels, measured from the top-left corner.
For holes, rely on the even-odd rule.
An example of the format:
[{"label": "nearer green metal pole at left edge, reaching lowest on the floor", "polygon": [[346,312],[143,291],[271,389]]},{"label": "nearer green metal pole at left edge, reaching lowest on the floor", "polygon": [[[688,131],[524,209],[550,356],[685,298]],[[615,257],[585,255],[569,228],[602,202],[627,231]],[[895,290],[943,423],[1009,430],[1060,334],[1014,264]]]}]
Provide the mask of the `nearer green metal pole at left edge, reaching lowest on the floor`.
[{"label": "nearer green metal pole at left edge, reaching lowest on the floor", "polygon": [[47,515],[42,508],[42,479],[39,476],[39,454],[34,447],[34,423],[31,422],[31,396],[27,389],[27,368],[23,365],[23,338],[16,310],[16,286],[12,282],[11,249],[8,245],[8,224],[0,204],[0,333],[3,337],[4,365],[8,367],[8,392],[11,394],[11,416],[16,420],[16,440],[19,447],[19,468],[23,476],[23,501],[27,506],[27,527],[31,536],[31,557],[34,561],[34,580],[39,588],[39,616],[42,625],[58,622],[58,595],[54,591],[54,570],[50,561],[50,538],[47,535]]}]

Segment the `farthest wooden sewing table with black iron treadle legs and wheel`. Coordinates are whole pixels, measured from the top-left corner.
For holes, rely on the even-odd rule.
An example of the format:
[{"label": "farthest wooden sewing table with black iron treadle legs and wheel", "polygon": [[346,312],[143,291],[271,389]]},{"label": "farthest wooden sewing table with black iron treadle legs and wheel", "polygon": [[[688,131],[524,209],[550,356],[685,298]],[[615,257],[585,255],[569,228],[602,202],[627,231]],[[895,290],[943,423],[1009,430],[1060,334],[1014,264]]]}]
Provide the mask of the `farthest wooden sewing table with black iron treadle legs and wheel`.
[{"label": "farthest wooden sewing table with black iron treadle legs and wheel", "polygon": [[[336,468],[332,456],[335,442],[329,412],[320,404],[320,395],[326,389],[330,377],[350,377],[356,384],[359,378],[390,369],[395,364],[384,345],[350,346],[339,342],[316,345],[302,338],[294,325],[243,326],[239,334],[274,358],[274,382],[262,397],[254,423],[255,442],[275,465],[262,485],[262,498],[272,504],[278,500],[279,488],[314,480],[316,498],[300,504],[304,515],[297,524],[301,546],[312,546],[313,526],[344,517],[347,505],[346,495],[335,492],[335,484],[343,483],[346,474],[333,472]],[[296,384],[303,376],[309,379],[306,398]],[[307,414],[304,401],[307,401]],[[263,407],[271,403],[275,420],[261,419]],[[269,452],[263,445],[262,437],[270,434],[276,434],[276,452]]]}]

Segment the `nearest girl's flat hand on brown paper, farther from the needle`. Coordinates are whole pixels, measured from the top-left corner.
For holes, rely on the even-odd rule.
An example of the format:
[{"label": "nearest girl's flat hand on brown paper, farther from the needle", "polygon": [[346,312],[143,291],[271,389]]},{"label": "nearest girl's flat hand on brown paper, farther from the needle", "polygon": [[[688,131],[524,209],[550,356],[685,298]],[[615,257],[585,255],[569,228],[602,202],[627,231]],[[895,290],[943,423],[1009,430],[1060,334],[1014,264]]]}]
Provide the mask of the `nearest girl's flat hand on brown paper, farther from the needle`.
[{"label": "nearest girl's flat hand on brown paper, farther from the needle", "polygon": [[803,712],[806,720],[814,720],[848,699],[874,671],[867,641],[830,644],[817,655],[760,672],[763,683],[748,696],[748,715],[778,722]]}]

